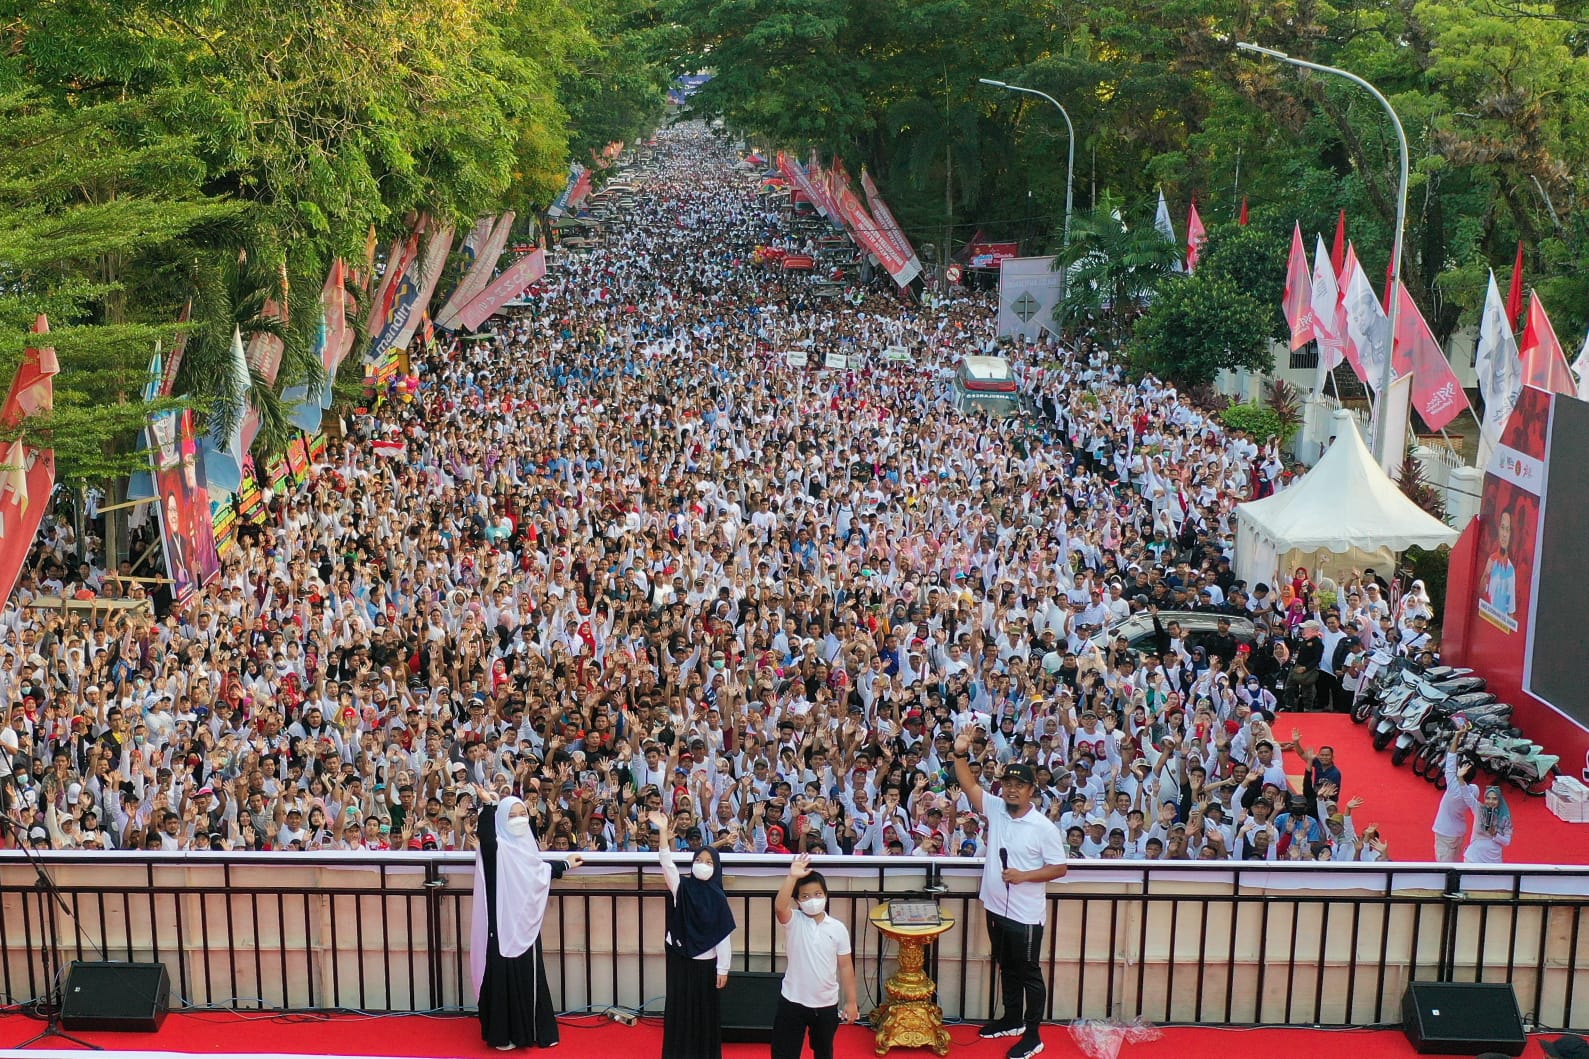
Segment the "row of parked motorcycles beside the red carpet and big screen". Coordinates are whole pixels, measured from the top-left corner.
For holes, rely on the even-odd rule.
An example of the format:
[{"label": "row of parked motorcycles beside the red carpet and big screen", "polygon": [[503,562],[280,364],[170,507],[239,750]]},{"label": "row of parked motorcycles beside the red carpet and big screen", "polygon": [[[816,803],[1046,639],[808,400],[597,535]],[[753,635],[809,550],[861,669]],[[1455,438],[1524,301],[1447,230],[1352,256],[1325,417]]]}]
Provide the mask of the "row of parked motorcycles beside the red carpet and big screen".
[{"label": "row of parked motorcycles beside the red carpet and big screen", "polygon": [[1413,771],[1441,790],[1446,751],[1459,730],[1457,754],[1478,760],[1524,793],[1545,797],[1559,773],[1560,758],[1513,727],[1511,704],[1487,692],[1484,677],[1473,669],[1419,666],[1387,650],[1374,652],[1352,720],[1373,728],[1376,751],[1394,747],[1394,765],[1411,762]]}]

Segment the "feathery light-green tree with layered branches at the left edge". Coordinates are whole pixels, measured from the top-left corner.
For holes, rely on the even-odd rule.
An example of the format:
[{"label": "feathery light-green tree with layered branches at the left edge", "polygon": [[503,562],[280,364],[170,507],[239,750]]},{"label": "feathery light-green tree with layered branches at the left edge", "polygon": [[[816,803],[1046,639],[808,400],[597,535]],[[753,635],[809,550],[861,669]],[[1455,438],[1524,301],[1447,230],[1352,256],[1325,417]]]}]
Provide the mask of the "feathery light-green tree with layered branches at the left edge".
[{"label": "feathery light-green tree with layered branches at the left edge", "polygon": [[48,313],[54,412],[22,433],[54,447],[60,480],[141,469],[135,439],[153,410],[141,391],[175,316],[141,315],[129,277],[240,211],[202,196],[189,138],[124,135],[145,116],[137,103],[59,111],[27,92],[0,95],[0,375],[11,378],[27,326]]}]

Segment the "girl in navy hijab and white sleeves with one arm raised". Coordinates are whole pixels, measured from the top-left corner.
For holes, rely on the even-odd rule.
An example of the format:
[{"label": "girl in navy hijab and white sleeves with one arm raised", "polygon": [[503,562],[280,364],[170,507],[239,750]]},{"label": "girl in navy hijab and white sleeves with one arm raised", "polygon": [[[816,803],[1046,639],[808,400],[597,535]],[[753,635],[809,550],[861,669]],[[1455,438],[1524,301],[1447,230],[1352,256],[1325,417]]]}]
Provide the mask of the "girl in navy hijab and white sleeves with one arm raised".
[{"label": "girl in navy hijab and white sleeves with one arm raised", "polygon": [[672,824],[650,816],[661,832],[658,849],[667,881],[667,1007],[663,1013],[663,1059],[721,1059],[723,1029],[718,989],[728,984],[734,913],[723,892],[723,862],[706,846],[680,878],[672,857]]}]

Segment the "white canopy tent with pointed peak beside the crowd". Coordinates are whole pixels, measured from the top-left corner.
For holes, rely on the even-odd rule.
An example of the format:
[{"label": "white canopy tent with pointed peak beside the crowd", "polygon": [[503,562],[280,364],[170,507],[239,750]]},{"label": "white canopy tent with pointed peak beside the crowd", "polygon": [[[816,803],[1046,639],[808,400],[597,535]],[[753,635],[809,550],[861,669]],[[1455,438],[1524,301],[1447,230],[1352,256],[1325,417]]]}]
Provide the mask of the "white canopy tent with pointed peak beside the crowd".
[{"label": "white canopy tent with pointed peak beside the crowd", "polygon": [[1374,461],[1351,412],[1336,410],[1335,442],[1289,488],[1236,507],[1236,577],[1278,584],[1306,566],[1340,582],[1373,566],[1389,576],[1397,555],[1454,544],[1457,531],[1409,501]]}]

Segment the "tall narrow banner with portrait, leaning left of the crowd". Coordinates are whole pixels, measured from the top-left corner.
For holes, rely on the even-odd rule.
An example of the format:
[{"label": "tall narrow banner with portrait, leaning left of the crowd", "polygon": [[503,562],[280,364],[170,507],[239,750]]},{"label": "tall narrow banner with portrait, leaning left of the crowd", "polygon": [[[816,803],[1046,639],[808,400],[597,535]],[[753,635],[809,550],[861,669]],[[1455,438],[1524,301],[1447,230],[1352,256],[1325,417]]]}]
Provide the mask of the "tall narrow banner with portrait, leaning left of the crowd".
[{"label": "tall narrow banner with portrait, leaning left of the crowd", "polygon": [[149,434],[165,571],[172,579],[172,599],[181,606],[221,572],[210,488],[194,439],[192,412],[156,417]]}]

